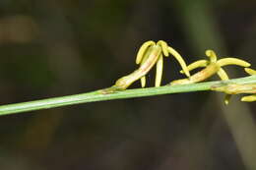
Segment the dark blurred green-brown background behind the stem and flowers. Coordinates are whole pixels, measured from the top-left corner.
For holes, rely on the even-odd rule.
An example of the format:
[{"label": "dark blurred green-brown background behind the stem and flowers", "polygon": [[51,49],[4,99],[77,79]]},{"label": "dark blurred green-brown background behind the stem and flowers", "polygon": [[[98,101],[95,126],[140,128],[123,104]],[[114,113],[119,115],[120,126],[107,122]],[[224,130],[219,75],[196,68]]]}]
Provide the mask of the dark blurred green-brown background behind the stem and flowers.
[{"label": "dark blurred green-brown background behind the stem and flowers", "polygon": [[[255,8],[254,0],[1,0],[0,103],[113,85],[151,39],[187,63],[214,49],[255,69]],[[163,85],[183,78],[179,69],[165,58]],[[148,86],[154,79],[155,71]],[[2,116],[0,169],[253,170],[256,103],[240,97],[225,106],[224,94],[180,93]]]}]

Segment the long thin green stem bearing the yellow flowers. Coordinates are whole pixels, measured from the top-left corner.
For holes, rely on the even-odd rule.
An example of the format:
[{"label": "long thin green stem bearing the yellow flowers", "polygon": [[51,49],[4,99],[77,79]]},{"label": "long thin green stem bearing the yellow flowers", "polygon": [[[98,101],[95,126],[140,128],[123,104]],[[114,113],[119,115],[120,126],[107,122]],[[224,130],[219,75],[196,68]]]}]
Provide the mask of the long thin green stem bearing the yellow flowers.
[{"label": "long thin green stem bearing the yellow flowers", "polygon": [[121,98],[135,98],[142,96],[160,95],[167,93],[180,93],[211,90],[212,86],[228,85],[228,84],[256,84],[256,76],[249,76],[245,78],[233,79],[229,81],[215,81],[207,83],[198,83],[190,85],[165,85],[160,87],[136,88],[126,89],[122,91],[115,91],[111,93],[102,93],[99,89],[93,92],[86,92],[82,94],[68,95],[62,97],[54,97],[48,99],[40,99],[29,102],[7,104],[0,106],[0,116],[22,113],[32,110],[48,109],[54,107],[61,107],[79,103],[88,103],[94,101],[104,101]]}]

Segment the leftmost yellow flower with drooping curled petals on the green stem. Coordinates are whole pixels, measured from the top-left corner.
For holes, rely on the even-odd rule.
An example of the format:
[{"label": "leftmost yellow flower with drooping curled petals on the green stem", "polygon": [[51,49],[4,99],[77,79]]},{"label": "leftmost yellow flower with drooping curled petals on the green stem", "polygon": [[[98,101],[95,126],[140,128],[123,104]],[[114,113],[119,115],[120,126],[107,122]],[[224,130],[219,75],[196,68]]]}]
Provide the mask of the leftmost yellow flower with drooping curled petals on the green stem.
[{"label": "leftmost yellow flower with drooping curled petals on the green stem", "polygon": [[157,43],[150,40],[145,42],[139,49],[136,64],[140,67],[128,76],[122,77],[116,81],[115,85],[111,88],[114,90],[124,90],[129,85],[132,85],[135,81],[141,79],[141,85],[144,87],[146,85],[146,74],[157,65],[157,74],[155,86],[160,86],[162,77],[162,67],[163,67],[163,56],[168,57],[169,54],[179,62],[181,68],[187,77],[190,76],[187,69],[186,63],[181,57],[181,55],[175,51],[173,48],[167,45],[163,40]]}]

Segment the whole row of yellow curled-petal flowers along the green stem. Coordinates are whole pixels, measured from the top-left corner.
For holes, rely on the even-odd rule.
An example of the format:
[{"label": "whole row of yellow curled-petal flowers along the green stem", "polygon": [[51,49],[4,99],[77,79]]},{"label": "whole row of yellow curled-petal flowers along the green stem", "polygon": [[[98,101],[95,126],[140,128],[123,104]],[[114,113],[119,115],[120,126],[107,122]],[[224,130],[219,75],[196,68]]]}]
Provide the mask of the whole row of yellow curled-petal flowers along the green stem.
[{"label": "whole row of yellow curled-petal flowers along the green stem", "polygon": [[[187,85],[203,82],[214,75],[218,75],[222,81],[228,80],[228,76],[224,71],[224,66],[237,65],[245,68],[245,72],[249,75],[256,75],[256,71],[249,69],[250,63],[232,57],[224,57],[220,60],[213,50],[206,50],[206,56],[209,60],[198,60],[190,65],[186,65],[182,56],[169,46],[163,40],[157,43],[150,40],[145,42],[139,49],[136,57],[136,64],[139,68],[133,73],[124,76],[116,81],[115,85],[103,90],[104,93],[113,92],[116,90],[124,90],[134,82],[141,80],[142,87],[146,85],[146,75],[156,65],[156,81],[155,86],[160,86],[162,70],[163,70],[163,57],[173,56],[181,66],[181,74],[185,74],[186,79],[172,81],[169,85]],[[203,68],[199,72],[190,75],[190,71],[198,68]],[[224,85],[213,87],[213,90],[222,91],[225,94],[224,102],[227,104],[231,94],[237,93],[253,93],[253,95],[242,97],[242,101],[256,101],[256,85]]]}]

